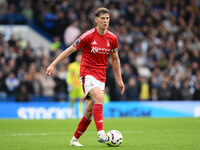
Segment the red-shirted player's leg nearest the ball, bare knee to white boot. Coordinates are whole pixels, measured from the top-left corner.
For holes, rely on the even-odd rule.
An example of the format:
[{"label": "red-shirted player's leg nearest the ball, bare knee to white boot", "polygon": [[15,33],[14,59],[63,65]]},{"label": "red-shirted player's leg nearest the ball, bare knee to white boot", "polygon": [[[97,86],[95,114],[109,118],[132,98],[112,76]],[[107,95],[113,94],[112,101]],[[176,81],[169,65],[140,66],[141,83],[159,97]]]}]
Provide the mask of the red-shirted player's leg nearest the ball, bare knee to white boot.
[{"label": "red-shirted player's leg nearest the ball, bare knee to white boot", "polygon": [[95,125],[97,128],[97,139],[98,142],[105,143],[107,136],[103,129],[103,103],[104,103],[104,94],[100,87],[94,87],[90,90],[89,96],[94,100],[93,107],[93,117]]}]

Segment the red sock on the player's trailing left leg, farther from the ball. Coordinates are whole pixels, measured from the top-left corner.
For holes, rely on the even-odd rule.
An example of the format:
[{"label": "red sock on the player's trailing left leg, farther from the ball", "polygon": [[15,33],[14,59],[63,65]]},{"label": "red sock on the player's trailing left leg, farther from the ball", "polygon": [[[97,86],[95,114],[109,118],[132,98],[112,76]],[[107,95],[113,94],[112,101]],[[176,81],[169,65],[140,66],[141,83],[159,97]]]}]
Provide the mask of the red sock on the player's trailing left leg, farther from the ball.
[{"label": "red sock on the player's trailing left leg, farther from the ball", "polygon": [[80,136],[86,131],[92,120],[86,119],[84,116],[78,124],[78,127],[74,133],[74,136],[79,139]]}]

